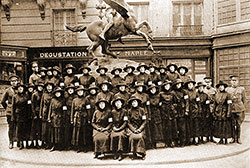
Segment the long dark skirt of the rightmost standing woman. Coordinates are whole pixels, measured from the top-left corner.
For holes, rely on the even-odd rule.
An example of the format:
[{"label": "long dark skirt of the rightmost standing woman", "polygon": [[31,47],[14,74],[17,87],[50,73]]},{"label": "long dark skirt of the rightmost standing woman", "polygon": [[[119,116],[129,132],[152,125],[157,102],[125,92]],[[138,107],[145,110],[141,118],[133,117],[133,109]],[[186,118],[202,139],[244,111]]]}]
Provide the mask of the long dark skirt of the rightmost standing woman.
[{"label": "long dark skirt of the rightmost standing woman", "polygon": [[216,138],[231,138],[232,137],[232,120],[215,120],[214,121],[214,136]]}]

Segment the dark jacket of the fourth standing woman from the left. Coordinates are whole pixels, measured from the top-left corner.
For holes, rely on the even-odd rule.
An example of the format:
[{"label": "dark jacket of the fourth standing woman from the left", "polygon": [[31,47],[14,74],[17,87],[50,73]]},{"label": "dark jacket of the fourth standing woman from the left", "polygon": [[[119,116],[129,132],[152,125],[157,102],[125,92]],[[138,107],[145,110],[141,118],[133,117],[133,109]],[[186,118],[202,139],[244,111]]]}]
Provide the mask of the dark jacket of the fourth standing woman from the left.
[{"label": "dark jacket of the fourth standing woman from the left", "polygon": [[44,92],[42,95],[39,116],[40,118],[42,118],[43,121],[48,120],[50,101],[52,97],[53,97],[52,92],[50,93]]}]

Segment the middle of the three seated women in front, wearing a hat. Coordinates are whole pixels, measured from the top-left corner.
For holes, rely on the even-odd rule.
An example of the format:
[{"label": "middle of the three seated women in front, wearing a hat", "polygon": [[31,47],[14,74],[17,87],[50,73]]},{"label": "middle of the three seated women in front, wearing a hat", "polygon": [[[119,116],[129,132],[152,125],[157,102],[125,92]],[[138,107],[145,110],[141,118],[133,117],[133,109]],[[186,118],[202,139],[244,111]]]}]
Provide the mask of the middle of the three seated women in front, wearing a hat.
[{"label": "middle of the three seated women in front, wearing a hat", "polygon": [[113,124],[111,132],[110,149],[114,154],[114,159],[122,160],[122,153],[125,149],[125,138],[127,126],[127,110],[124,108],[125,100],[116,95],[112,101],[113,110],[111,112]]}]

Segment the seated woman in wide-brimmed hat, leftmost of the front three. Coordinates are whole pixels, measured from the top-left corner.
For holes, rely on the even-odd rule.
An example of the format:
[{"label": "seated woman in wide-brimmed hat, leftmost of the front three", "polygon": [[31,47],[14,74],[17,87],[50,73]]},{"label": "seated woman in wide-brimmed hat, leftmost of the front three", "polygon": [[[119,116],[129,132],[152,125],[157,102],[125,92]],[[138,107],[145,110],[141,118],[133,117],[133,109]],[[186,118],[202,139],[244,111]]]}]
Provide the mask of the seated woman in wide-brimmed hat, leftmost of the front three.
[{"label": "seated woman in wide-brimmed hat, leftmost of the front three", "polygon": [[109,104],[103,97],[96,102],[96,111],[92,118],[94,158],[102,158],[109,149],[109,135],[112,125],[112,118]]}]

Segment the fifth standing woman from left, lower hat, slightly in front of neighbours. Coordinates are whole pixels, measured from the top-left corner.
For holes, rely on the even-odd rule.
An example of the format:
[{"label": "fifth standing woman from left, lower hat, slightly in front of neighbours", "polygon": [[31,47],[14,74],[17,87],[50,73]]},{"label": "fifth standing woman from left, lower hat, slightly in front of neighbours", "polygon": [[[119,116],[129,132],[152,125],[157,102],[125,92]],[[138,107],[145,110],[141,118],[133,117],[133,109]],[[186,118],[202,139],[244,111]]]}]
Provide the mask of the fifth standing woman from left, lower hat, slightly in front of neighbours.
[{"label": "fifth standing woman from left, lower hat, slightly in front of neighbours", "polygon": [[51,148],[51,152],[54,150],[61,150],[63,137],[62,137],[62,127],[63,127],[63,106],[64,106],[64,96],[63,90],[60,87],[55,88],[53,91],[54,97],[51,99],[49,114],[48,114],[48,122],[51,122],[52,130],[51,130],[51,144],[53,145]]}]

